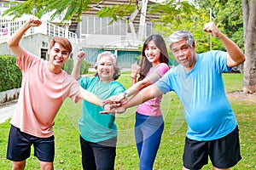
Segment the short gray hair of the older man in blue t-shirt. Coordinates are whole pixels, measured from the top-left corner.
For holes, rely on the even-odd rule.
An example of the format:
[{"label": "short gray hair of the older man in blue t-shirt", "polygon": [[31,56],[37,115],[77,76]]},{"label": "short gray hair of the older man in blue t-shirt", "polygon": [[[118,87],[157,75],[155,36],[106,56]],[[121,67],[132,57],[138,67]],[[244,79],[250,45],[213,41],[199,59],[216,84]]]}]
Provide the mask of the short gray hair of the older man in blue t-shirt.
[{"label": "short gray hair of the older man in blue t-shirt", "polygon": [[186,40],[191,48],[193,47],[193,42],[195,41],[193,35],[189,31],[175,31],[171,34],[171,36],[168,37],[170,48],[172,43],[179,42],[181,40]]}]

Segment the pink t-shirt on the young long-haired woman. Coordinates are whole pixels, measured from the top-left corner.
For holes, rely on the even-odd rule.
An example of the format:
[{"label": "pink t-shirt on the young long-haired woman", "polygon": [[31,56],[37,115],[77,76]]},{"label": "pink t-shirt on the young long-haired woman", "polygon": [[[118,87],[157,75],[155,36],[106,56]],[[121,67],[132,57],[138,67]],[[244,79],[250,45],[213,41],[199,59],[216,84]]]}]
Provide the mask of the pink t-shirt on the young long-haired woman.
[{"label": "pink t-shirt on the young long-haired woman", "polygon": [[[159,65],[152,67],[148,71],[147,76],[154,72],[160,75],[160,77],[163,77],[168,70],[169,70],[168,65],[166,65],[165,63],[160,63]],[[145,116],[161,116],[162,115],[162,112],[160,110],[161,99],[162,99],[162,95],[154,99],[149,99],[143,104],[138,105],[137,112]]]}]

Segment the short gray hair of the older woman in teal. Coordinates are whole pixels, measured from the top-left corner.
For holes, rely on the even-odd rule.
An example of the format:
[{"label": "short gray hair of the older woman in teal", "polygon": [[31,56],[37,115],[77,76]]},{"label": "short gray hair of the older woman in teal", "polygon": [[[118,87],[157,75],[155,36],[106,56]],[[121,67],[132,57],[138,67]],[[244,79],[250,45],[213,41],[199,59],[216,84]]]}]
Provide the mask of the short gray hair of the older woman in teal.
[{"label": "short gray hair of the older woman in teal", "polygon": [[[109,56],[113,60],[113,67],[114,67],[114,70],[115,70],[114,74],[113,74],[113,80],[117,80],[120,76],[120,68],[118,67],[118,59],[117,59],[117,56],[115,54],[112,54],[109,51],[104,51],[101,54],[98,54],[97,59],[96,59],[95,68],[97,69],[97,65],[99,65],[100,59],[102,59],[102,57],[105,57],[105,56]],[[97,72],[96,72],[95,76],[98,76]]]}]

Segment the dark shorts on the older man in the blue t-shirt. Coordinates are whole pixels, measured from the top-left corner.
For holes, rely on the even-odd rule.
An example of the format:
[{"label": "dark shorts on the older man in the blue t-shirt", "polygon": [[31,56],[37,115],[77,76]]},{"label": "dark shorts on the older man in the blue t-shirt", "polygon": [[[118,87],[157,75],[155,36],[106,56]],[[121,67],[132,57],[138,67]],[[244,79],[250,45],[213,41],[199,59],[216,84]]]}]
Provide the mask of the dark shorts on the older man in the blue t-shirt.
[{"label": "dark shorts on the older man in the blue t-shirt", "polygon": [[229,168],[241,160],[239,130],[235,128],[227,136],[211,141],[196,141],[186,138],[183,166],[188,169],[201,169],[208,163],[218,168]]}]

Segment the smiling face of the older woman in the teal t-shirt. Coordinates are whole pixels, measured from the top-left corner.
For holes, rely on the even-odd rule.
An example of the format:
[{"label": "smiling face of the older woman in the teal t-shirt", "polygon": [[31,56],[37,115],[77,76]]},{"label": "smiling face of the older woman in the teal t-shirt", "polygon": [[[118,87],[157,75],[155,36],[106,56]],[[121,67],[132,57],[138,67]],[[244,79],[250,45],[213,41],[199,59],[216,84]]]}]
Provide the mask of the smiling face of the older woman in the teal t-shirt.
[{"label": "smiling face of the older woman in the teal t-shirt", "polygon": [[102,56],[97,63],[96,70],[101,82],[113,81],[113,74],[115,73],[115,69],[113,65],[113,59],[110,56]]}]

